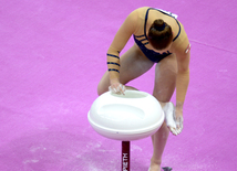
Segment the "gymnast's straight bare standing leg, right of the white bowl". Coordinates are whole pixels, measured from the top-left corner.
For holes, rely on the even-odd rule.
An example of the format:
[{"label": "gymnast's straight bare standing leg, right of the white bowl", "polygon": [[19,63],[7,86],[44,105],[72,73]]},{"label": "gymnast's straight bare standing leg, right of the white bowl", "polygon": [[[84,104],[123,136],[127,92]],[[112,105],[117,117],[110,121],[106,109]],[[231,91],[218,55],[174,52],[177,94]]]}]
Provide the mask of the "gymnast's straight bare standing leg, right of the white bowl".
[{"label": "gymnast's straight bare standing leg, right of the white bowl", "polygon": [[[175,54],[163,58],[155,68],[155,86],[153,96],[161,103],[163,109],[171,100],[176,86],[177,62]],[[164,121],[162,127],[152,136],[153,157],[150,171],[161,171],[162,154],[169,135]]]}]

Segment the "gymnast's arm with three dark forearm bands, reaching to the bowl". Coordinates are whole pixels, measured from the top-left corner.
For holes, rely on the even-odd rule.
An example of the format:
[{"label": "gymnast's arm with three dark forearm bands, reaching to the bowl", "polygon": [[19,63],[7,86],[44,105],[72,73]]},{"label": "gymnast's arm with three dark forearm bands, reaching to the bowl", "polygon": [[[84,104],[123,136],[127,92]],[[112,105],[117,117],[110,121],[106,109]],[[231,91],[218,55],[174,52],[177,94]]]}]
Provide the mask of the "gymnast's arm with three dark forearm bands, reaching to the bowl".
[{"label": "gymnast's arm with three dark forearm bands, reaching to the bowl", "polygon": [[[124,49],[131,35],[135,32],[137,14],[136,11],[133,11],[128,14],[115,34],[115,38],[107,51],[107,68],[111,88],[120,89],[120,52]],[[123,93],[123,89],[120,90]]]}]

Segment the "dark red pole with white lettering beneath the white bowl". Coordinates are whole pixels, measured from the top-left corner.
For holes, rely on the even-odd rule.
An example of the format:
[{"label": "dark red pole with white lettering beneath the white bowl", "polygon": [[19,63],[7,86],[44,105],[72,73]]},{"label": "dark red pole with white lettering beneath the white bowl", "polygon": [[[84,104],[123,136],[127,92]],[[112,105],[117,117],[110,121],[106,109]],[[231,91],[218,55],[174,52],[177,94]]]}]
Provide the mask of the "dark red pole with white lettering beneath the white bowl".
[{"label": "dark red pole with white lettering beneath the white bowl", "polygon": [[122,141],[122,171],[130,171],[130,141]]}]

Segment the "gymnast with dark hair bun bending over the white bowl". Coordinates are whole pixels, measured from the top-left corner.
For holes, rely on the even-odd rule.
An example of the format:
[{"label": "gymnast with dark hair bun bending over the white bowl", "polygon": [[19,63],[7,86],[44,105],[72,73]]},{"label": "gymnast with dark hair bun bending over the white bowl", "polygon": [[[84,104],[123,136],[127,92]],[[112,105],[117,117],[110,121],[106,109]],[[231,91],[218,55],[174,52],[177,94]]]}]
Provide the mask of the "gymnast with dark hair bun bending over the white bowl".
[{"label": "gymnast with dark hair bun bending over the white bowl", "polygon": [[[130,38],[134,45],[120,56]],[[109,89],[124,94],[130,81],[143,75],[155,63],[153,96],[165,114],[162,127],[152,136],[153,156],[150,171],[161,171],[162,154],[169,131],[183,130],[183,105],[189,83],[190,44],[183,24],[171,12],[143,7],[131,12],[107,50],[107,67],[97,86],[99,95]],[[176,88],[176,105],[171,98]]]}]

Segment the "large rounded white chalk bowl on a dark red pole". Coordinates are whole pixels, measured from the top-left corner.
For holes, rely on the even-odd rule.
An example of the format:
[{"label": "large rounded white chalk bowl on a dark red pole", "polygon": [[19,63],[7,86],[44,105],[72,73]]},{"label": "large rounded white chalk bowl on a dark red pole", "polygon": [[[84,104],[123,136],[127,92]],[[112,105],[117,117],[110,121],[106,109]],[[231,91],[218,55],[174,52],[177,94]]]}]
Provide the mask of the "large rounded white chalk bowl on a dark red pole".
[{"label": "large rounded white chalk bowl on a dark red pole", "polygon": [[155,133],[164,121],[157,99],[145,92],[110,92],[99,96],[87,114],[92,128],[110,139],[131,141]]}]

